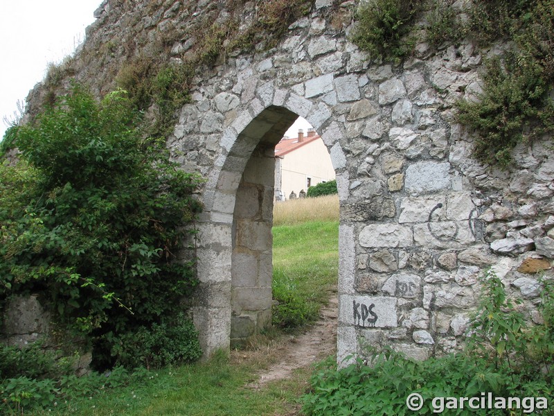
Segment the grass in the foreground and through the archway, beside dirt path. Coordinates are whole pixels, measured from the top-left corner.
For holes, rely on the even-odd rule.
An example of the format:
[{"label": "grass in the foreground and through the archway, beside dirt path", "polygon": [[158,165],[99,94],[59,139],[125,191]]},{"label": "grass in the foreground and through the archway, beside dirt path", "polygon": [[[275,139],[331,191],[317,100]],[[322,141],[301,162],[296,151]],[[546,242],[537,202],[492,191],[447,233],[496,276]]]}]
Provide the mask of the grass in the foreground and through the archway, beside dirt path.
[{"label": "grass in the foreground and through the archway, beside dirt path", "polygon": [[[333,208],[334,207],[334,208]],[[334,211],[333,211],[334,209]],[[293,200],[276,205],[280,225],[274,227],[274,297],[280,317],[276,329],[254,337],[248,347],[215,354],[206,363],[159,371],[112,373],[98,387],[73,388],[68,403],[42,410],[12,409],[8,415],[297,415],[299,398],[307,391],[312,370],[301,369],[289,379],[251,388],[258,374],[276,362],[275,352],[285,340],[283,329],[304,327],[319,315],[319,308],[337,288],[337,197]],[[284,216],[283,213],[288,213]],[[323,215],[325,212],[325,215]],[[278,214],[276,214],[278,215]],[[302,222],[298,218],[310,218]],[[323,219],[325,218],[325,219]],[[98,376],[97,376],[98,377]],[[110,385],[111,384],[111,385]],[[0,412],[6,410],[0,404]]]}]

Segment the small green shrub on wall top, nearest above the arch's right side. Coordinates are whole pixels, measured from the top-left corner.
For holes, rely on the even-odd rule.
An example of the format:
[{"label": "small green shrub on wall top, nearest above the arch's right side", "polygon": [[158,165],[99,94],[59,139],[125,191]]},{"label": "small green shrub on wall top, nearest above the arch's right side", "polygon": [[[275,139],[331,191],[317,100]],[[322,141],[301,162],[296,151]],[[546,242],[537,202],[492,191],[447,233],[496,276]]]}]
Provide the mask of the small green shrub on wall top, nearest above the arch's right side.
[{"label": "small green shrub on wall top, nearest above the arch's right side", "polygon": [[399,60],[411,53],[412,42],[404,37],[422,11],[418,0],[372,0],[357,12],[352,42],[371,58]]}]

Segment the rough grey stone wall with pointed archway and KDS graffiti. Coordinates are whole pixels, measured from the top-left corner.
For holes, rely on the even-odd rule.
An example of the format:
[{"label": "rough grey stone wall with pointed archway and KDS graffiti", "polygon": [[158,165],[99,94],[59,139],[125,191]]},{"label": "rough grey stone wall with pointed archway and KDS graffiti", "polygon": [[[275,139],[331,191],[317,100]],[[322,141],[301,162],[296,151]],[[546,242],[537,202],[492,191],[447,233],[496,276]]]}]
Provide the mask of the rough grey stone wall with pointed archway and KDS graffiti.
[{"label": "rough grey stone wall with pointed archway and KDS graffiti", "polygon": [[[226,17],[225,2],[148,3],[102,4],[75,78],[106,92],[126,60],[155,53],[168,27],[192,24],[208,3]],[[536,272],[554,257],[554,157],[537,142],[520,145],[506,171],[484,166],[453,109],[481,91],[481,62],[494,49],[420,43],[402,64],[372,63],[348,41],[356,5],[316,0],[276,48],[199,73],[179,112],[168,146],[206,177],[193,308],[206,354],[269,324],[271,148],[297,116],[321,135],[337,174],[339,361],[366,344],[415,358],[454,351],[488,266],[540,320]],[[253,6],[245,3],[245,24]],[[172,62],[190,42],[170,45]],[[41,94],[30,94],[31,110]]]}]

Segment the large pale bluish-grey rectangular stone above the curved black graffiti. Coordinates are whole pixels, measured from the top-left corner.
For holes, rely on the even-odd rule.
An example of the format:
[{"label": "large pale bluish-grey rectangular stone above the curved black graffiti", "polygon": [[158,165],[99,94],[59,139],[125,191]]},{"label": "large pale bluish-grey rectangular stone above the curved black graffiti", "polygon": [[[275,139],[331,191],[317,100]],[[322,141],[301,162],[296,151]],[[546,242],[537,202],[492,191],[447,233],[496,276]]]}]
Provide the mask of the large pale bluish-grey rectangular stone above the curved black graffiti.
[{"label": "large pale bluish-grey rectangular stone above the curved black graffiti", "polygon": [[404,187],[409,193],[434,192],[449,189],[450,164],[418,162],[406,169]]}]

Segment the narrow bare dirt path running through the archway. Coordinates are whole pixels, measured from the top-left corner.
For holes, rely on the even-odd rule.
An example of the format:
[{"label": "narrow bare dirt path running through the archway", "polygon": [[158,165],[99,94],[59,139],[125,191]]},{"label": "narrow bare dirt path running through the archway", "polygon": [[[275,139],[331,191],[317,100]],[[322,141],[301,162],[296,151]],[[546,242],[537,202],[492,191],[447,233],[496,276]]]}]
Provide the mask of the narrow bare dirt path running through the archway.
[{"label": "narrow bare dirt path running through the archway", "polygon": [[319,320],[305,333],[292,336],[276,352],[276,363],[260,373],[260,378],[250,387],[261,388],[271,381],[286,379],[294,370],[307,367],[334,354],[337,347],[337,294],[323,306]]}]

